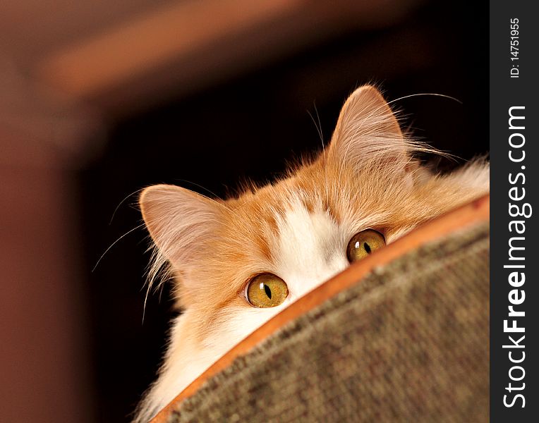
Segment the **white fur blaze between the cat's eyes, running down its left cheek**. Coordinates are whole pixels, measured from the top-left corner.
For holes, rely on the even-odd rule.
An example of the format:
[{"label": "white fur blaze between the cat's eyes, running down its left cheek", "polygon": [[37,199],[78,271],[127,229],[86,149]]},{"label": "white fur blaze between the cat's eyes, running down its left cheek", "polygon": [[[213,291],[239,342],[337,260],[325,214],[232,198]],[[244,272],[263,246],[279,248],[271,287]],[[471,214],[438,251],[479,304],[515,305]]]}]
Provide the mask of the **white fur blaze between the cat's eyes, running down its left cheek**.
[{"label": "white fur blaze between the cat's eyes, running down its left cheek", "polygon": [[346,259],[348,230],[339,228],[321,208],[309,213],[300,201],[296,201],[291,203],[284,217],[277,215],[276,219],[279,237],[272,245],[275,259],[272,267],[266,270],[286,282],[289,298],[277,307],[228,310],[226,324],[208,337],[204,346],[214,357],[226,353],[291,302],[349,265]]}]

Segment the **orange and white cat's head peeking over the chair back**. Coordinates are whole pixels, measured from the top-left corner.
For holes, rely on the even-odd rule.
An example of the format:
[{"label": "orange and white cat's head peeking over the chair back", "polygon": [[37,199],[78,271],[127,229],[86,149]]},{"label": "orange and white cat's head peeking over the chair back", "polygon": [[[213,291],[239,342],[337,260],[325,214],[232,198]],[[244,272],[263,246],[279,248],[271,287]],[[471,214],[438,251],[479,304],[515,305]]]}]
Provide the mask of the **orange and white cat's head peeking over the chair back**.
[{"label": "orange and white cat's head peeking over the chair back", "polygon": [[229,200],[146,188],[150,280],[167,266],[207,342],[217,332],[241,339],[349,262],[466,197],[427,175],[413,159],[421,149],[367,85],[346,100],[325,151],[271,185]]}]

